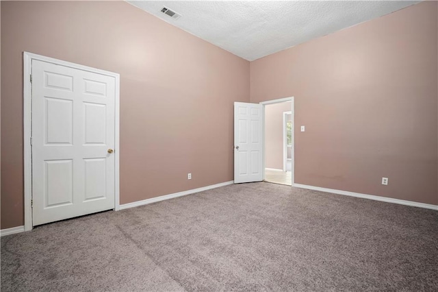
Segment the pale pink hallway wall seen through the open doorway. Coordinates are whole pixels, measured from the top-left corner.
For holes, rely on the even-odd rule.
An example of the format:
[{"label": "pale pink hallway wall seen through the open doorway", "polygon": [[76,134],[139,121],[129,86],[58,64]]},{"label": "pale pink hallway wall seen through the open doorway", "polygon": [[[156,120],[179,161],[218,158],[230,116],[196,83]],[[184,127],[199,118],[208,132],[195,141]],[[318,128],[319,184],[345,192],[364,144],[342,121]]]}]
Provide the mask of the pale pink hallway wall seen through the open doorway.
[{"label": "pale pink hallway wall seen through the open doorway", "polygon": [[283,112],[291,102],[265,106],[265,163],[270,169],[283,169]]}]

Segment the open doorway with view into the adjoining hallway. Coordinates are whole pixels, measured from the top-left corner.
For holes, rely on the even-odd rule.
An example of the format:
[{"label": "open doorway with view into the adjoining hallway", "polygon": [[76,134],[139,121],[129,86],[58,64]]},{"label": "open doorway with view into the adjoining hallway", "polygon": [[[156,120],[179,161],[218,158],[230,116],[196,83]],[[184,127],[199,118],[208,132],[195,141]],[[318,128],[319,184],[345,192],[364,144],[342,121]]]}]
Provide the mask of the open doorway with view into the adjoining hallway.
[{"label": "open doorway with view into the adjoining hallway", "polygon": [[294,99],[263,101],[263,180],[294,182]]}]

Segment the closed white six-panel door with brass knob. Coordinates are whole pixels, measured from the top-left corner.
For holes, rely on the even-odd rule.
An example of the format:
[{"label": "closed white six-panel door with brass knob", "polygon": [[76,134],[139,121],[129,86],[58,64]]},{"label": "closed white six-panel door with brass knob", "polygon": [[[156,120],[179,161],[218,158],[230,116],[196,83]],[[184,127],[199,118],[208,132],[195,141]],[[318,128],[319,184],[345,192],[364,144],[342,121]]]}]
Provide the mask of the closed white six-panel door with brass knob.
[{"label": "closed white six-panel door with brass knob", "polygon": [[114,76],[31,68],[33,225],[114,208]]}]

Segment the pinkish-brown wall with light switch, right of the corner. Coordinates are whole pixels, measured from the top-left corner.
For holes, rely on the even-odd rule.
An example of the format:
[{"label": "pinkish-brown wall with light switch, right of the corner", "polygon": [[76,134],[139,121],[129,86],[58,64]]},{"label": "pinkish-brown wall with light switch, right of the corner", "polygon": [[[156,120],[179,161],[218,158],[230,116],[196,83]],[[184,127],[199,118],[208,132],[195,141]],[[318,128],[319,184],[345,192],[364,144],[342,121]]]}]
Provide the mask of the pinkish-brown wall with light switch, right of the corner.
[{"label": "pinkish-brown wall with light switch, right of the corner", "polygon": [[438,204],[437,5],[251,62],[251,102],[295,97],[296,183]]}]

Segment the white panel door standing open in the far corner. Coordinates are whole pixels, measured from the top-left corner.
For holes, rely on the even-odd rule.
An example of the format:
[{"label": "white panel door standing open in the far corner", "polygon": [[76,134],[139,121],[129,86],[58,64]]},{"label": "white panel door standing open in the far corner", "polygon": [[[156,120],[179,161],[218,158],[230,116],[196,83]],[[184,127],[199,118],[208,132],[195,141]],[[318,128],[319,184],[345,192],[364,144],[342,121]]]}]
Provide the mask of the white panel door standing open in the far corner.
[{"label": "white panel door standing open in the far corner", "polygon": [[234,103],[234,182],[263,180],[261,104]]}]

